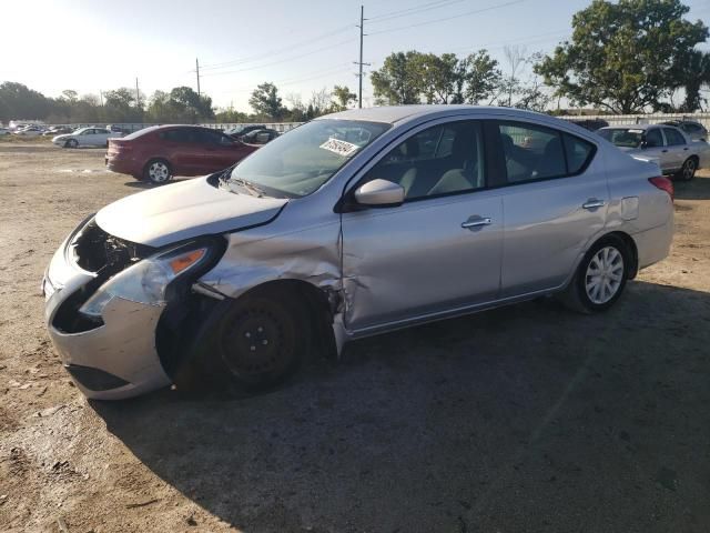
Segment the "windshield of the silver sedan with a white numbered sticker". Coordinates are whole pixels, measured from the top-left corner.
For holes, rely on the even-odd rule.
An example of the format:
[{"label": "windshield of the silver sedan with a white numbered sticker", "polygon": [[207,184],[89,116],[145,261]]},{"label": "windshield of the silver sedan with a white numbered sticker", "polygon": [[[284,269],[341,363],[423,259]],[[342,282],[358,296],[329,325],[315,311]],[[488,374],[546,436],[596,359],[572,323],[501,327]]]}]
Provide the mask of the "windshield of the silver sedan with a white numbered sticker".
[{"label": "windshield of the silver sedan with a white numbered sticker", "polygon": [[305,197],[389,127],[353,120],[307,122],[239,163],[230,181],[248,183],[277,195]]}]

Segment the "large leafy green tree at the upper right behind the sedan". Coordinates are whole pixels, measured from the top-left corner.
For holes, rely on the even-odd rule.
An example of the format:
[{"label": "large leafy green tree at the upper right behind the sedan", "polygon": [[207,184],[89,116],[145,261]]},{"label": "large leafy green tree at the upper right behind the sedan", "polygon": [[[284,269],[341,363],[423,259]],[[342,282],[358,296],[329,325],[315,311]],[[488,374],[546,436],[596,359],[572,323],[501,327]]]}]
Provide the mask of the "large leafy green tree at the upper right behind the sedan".
[{"label": "large leafy green tree at the upper right behind the sedan", "polygon": [[656,110],[676,84],[678,62],[708,37],[680,0],[594,0],[572,17],[565,41],[535,68],[557,94],[616,113]]}]

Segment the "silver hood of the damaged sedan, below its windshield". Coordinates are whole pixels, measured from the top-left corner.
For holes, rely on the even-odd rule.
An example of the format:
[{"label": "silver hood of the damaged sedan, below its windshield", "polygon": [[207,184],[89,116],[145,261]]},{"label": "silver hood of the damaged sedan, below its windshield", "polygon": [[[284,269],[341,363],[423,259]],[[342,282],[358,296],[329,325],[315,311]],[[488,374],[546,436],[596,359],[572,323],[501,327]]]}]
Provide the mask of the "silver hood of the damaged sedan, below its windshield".
[{"label": "silver hood of the damaged sedan, below its windshield", "polygon": [[140,192],[97,213],[105,232],[149,247],[271,222],[288,200],[235,194],[197,178]]}]

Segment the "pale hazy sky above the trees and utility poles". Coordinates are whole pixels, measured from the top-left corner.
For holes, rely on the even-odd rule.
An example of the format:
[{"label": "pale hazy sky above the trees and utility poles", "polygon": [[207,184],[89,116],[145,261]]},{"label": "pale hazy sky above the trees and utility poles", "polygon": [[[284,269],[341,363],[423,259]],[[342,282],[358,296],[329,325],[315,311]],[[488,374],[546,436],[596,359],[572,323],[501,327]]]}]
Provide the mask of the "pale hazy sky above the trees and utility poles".
[{"label": "pale hazy sky above the trees and utility poles", "polygon": [[[505,69],[504,47],[550,52],[590,0],[4,0],[0,82],[48,97],[135,87],[150,95],[200,84],[220,108],[251,111],[251,91],[274,82],[284,103],[347,86],[357,92],[359,10],[365,72],[392,52],[486,48]],[[710,0],[687,0],[687,18],[710,26]],[[706,44],[702,48],[708,49]],[[363,103],[373,103],[365,77]]]}]

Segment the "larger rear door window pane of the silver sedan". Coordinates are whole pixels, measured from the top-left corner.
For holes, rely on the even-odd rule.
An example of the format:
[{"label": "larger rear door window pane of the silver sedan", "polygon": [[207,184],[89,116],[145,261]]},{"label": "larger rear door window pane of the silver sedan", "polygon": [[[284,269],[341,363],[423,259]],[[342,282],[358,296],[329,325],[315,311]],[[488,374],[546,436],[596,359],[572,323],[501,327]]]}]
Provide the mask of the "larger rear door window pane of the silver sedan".
[{"label": "larger rear door window pane of the silver sedan", "polygon": [[567,174],[565,148],[558,131],[532,124],[499,123],[508,182]]}]

